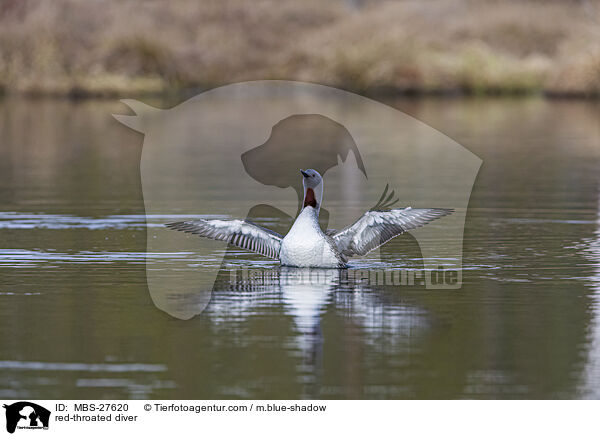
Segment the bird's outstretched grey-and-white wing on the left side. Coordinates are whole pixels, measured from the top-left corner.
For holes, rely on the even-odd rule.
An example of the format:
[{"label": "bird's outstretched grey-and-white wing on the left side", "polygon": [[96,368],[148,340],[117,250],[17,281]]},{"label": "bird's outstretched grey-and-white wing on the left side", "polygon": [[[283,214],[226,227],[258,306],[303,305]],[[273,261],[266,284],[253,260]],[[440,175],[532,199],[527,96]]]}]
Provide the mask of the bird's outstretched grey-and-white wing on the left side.
[{"label": "bird's outstretched grey-and-white wing on the left side", "polygon": [[236,247],[273,259],[279,259],[279,250],[283,237],[279,233],[248,221],[199,219],[165,225],[173,230],[192,233],[217,241],[229,242]]}]

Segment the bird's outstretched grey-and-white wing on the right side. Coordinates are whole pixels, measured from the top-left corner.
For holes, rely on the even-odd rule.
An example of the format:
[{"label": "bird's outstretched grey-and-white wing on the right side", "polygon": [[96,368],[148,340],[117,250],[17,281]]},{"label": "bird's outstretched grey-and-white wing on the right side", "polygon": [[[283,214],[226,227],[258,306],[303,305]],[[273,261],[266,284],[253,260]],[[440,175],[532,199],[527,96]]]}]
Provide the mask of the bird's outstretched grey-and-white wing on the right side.
[{"label": "bird's outstretched grey-and-white wing on the right side", "polygon": [[402,233],[449,215],[453,209],[370,210],[350,227],[332,235],[345,256],[364,256]]}]

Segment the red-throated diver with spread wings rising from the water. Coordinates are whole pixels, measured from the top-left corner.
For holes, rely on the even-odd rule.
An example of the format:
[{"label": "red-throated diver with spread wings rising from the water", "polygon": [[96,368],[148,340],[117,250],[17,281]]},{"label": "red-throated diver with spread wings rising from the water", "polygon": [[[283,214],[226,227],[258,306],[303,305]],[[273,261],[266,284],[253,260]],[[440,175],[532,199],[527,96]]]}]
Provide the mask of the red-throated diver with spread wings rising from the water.
[{"label": "red-throated diver with spread wings rising from the water", "polygon": [[347,268],[352,256],[364,256],[391,239],[449,215],[453,209],[389,209],[394,192],[388,186],[377,204],[354,224],[340,230],[323,231],[319,210],[323,201],[323,177],[313,169],[300,170],[304,201],[299,215],[283,236],[249,220],[196,219],[165,224],[172,230],[228,242],[282,266],[300,268]]}]

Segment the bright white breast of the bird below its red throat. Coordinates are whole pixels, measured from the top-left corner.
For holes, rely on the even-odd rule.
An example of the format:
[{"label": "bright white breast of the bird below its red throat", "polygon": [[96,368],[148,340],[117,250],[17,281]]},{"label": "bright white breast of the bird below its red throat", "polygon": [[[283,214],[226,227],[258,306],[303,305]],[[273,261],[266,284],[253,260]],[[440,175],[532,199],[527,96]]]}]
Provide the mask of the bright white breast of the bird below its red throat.
[{"label": "bright white breast of the bird below its red throat", "polygon": [[316,210],[305,207],[281,242],[282,265],[337,268],[340,264],[323,231]]}]

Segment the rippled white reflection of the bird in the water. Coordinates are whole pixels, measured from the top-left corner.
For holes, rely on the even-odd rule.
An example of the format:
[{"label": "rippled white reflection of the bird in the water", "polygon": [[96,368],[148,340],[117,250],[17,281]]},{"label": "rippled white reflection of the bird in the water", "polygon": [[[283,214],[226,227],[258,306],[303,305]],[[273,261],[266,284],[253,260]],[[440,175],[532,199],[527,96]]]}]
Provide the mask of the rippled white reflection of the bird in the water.
[{"label": "rippled white reflection of the bird in the water", "polygon": [[348,270],[276,266],[239,271],[231,269],[220,276],[205,315],[219,328],[243,332],[239,339],[256,346],[255,341],[283,332],[267,322],[269,330],[261,330],[260,338],[253,337],[248,334],[253,318],[281,317],[275,314],[282,310],[291,321],[285,324],[285,336],[292,338],[285,346],[286,354],[295,360],[307,396],[320,393],[324,343],[331,346],[339,339],[328,337],[328,331],[337,331],[339,323],[347,333],[338,343],[347,356],[340,371],[346,372],[360,367],[365,352],[360,343],[376,347],[381,355],[398,357],[430,327],[428,311],[401,300],[397,287],[372,286]]}]

